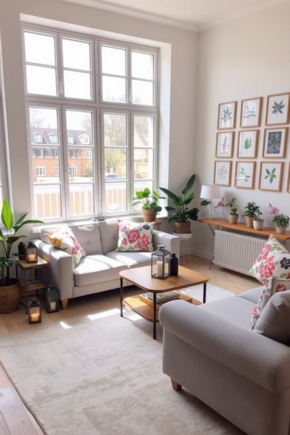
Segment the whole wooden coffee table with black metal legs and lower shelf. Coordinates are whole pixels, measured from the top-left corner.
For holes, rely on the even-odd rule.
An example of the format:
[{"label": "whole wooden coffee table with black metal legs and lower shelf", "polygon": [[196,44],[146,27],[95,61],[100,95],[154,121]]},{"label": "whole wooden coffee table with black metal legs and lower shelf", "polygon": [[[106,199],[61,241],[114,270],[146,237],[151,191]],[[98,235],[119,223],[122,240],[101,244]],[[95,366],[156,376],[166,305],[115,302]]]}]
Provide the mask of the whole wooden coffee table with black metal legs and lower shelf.
[{"label": "whole wooden coffee table with black metal legs and lower shelf", "polygon": [[[156,294],[166,291],[180,290],[192,285],[203,284],[203,304],[207,298],[207,275],[179,266],[178,275],[167,279],[151,277],[151,266],[132,268],[121,271],[120,275],[120,315],[123,317],[123,305],[148,321],[153,321],[153,338],[156,339],[156,323],[158,320]],[[123,279],[141,288],[145,292],[153,293],[153,307],[140,301],[139,295],[123,299]],[[181,294],[180,292],[178,292]]]}]

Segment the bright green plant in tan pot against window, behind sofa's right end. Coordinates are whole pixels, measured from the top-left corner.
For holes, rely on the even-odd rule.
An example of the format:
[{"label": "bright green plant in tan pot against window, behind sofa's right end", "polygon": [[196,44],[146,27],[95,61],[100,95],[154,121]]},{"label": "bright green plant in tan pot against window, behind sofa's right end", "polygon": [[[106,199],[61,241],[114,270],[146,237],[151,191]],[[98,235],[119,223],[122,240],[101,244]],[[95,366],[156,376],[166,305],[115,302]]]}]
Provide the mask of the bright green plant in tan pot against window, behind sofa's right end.
[{"label": "bright green plant in tan pot against window, behind sofa's right end", "polygon": [[143,191],[135,193],[135,197],[132,198],[135,202],[132,206],[142,204],[141,209],[143,211],[144,222],[154,222],[156,221],[157,213],[162,210],[162,207],[157,204],[159,199],[165,199],[165,197],[160,196],[155,191],[151,193],[150,189],[145,187]]}]

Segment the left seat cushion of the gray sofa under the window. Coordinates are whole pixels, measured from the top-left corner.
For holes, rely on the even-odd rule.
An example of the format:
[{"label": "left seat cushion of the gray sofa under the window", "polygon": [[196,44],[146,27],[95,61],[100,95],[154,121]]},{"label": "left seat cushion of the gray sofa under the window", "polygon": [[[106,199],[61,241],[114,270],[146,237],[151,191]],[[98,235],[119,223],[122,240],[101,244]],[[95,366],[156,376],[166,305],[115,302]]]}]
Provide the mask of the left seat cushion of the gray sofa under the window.
[{"label": "left seat cushion of the gray sofa under the window", "polygon": [[76,286],[84,286],[120,279],[119,272],[124,269],[126,264],[105,255],[87,255],[74,268],[74,282]]}]

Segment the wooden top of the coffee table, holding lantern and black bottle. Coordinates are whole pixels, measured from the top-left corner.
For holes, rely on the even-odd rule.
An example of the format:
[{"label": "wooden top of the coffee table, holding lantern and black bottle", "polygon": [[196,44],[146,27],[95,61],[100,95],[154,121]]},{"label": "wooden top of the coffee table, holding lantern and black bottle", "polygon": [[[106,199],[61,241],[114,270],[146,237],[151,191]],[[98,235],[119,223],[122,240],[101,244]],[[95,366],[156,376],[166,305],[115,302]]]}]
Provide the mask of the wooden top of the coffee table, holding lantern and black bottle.
[{"label": "wooden top of the coffee table, holding lantern and black bottle", "polygon": [[121,278],[127,279],[127,281],[142,288],[144,291],[156,293],[178,290],[180,288],[189,287],[190,285],[204,284],[209,280],[207,275],[192,271],[182,266],[178,267],[177,276],[170,276],[166,279],[152,278],[151,266],[126,269],[121,271],[119,275]]}]

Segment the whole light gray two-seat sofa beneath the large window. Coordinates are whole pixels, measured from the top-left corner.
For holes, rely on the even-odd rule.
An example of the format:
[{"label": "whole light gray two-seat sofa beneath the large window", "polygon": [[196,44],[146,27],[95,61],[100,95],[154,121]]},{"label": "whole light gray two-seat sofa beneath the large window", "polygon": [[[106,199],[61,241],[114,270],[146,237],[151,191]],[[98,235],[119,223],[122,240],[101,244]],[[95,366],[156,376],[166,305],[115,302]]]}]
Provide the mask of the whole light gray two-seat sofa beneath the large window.
[{"label": "whole light gray two-seat sofa beneath the large window", "polygon": [[[48,284],[54,284],[60,294],[63,309],[68,299],[120,287],[119,272],[127,268],[151,264],[151,252],[115,252],[119,235],[117,221],[100,221],[71,226],[73,234],[86,252],[73,267],[73,258],[48,241],[56,228],[42,231],[41,238],[33,240],[38,255],[48,261]],[[180,239],[172,234],[153,230],[153,248],[163,244],[179,257]],[[124,285],[130,285],[124,282]]]}]

